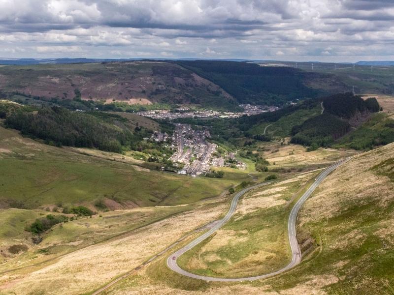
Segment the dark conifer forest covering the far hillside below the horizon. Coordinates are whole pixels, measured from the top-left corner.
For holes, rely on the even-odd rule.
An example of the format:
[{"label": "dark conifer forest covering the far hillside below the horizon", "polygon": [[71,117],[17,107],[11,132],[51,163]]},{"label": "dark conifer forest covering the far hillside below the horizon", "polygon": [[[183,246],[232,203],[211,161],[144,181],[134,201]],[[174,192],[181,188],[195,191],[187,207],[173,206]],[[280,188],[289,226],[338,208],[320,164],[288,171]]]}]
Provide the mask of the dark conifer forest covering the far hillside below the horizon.
[{"label": "dark conifer forest covering the far hillside below the horizon", "polygon": [[179,60],[176,63],[219,85],[239,103],[282,106],[297,98],[323,94],[304,85],[309,73],[291,67],[235,61]]}]

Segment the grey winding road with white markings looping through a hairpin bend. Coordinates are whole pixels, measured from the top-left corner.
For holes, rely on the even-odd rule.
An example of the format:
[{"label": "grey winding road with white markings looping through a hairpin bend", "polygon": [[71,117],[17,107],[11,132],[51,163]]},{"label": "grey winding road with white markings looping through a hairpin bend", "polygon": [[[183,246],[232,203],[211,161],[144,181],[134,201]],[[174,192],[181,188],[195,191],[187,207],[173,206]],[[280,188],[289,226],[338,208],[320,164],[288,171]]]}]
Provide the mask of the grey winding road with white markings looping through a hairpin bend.
[{"label": "grey winding road with white markings looping through a hairpin bend", "polygon": [[[185,276],[199,279],[199,280],[204,280],[204,281],[216,281],[216,282],[240,282],[240,281],[254,281],[254,280],[259,280],[259,279],[264,279],[268,278],[277,274],[280,274],[286,270],[289,270],[290,268],[296,266],[297,264],[300,263],[301,261],[301,250],[298,246],[297,238],[296,238],[296,218],[298,211],[300,207],[305,203],[306,199],[313,193],[313,191],[318,187],[318,185],[330,174],[333,170],[335,170],[339,165],[342,163],[346,162],[349,160],[349,158],[341,160],[334,165],[326,168],[313,182],[313,184],[308,188],[308,190],[302,195],[302,197],[297,201],[296,205],[292,208],[290,215],[289,215],[289,221],[288,221],[288,233],[289,233],[289,241],[290,241],[290,247],[292,249],[292,261],[282,269],[279,269],[277,271],[263,274],[263,275],[258,275],[258,276],[253,276],[253,277],[245,277],[245,278],[215,278],[215,277],[209,277],[209,276],[202,276],[202,275],[197,275],[191,272],[188,272],[178,266],[176,263],[176,260],[187,252],[188,250],[192,249],[194,246],[196,246],[198,243],[206,239],[207,237],[211,236],[214,232],[216,232],[223,224],[225,224],[231,217],[231,215],[234,213],[235,208],[237,206],[239,198],[248,192],[251,189],[266,185],[268,183],[271,183],[271,181],[268,182],[263,182],[261,184],[257,184],[248,188],[245,188],[238,192],[232,199],[231,201],[231,206],[229,212],[226,214],[226,216],[220,220],[211,230],[203,234],[202,236],[197,237],[195,240],[187,244],[185,247],[179,249],[178,251],[172,253],[168,258],[167,258],[167,266],[172,269],[173,271],[183,274]],[[172,259],[175,256],[176,259]]]}]

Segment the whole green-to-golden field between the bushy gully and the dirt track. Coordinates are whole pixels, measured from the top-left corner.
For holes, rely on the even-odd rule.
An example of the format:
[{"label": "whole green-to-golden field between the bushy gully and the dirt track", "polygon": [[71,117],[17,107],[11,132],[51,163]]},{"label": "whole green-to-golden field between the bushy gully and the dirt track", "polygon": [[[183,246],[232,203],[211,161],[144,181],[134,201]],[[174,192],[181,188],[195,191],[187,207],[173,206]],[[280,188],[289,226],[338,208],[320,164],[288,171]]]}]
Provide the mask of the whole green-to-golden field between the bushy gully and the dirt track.
[{"label": "whole green-to-golden field between the bushy gully and the dirt track", "polygon": [[[28,286],[31,294],[93,291],[218,218],[223,209],[219,199],[199,203],[193,211],[184,206],[136,208],[55,226],[40,244],[1,266],[8,271],[0,275],[0,293],[25,294]],[[13,267],[17,269],[9,271]]]}]

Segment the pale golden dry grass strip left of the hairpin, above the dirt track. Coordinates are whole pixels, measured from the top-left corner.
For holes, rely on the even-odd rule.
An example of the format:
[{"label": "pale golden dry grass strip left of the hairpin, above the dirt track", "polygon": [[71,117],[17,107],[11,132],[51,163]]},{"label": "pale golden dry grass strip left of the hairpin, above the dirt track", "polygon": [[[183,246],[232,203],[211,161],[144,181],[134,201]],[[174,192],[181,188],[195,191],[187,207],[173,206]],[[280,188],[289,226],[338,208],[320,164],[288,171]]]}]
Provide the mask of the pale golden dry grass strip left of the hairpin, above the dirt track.
[{"label": "pale golden dry grass strip left of the hairpin, above the dirt track", "polygon": [[81,294],[92,291],[141,265],[186,233],[217,219],[224,209],[224,205],[220,205],[183,213],[130,235],[67,254],[33,272],[7,273],[0,276],[0,293]]}]

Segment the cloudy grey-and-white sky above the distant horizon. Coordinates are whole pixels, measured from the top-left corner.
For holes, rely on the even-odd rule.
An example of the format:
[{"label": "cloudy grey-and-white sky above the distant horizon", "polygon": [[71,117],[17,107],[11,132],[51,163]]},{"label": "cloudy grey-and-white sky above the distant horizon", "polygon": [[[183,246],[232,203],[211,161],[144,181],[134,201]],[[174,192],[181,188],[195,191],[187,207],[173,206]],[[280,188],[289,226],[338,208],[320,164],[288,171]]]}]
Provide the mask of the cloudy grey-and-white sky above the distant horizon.
[{"label": "cloudy grey-and-white sky above the distant horizon", "polygon": [[394,0],[0,0],[0,58],[394,60]]}]

